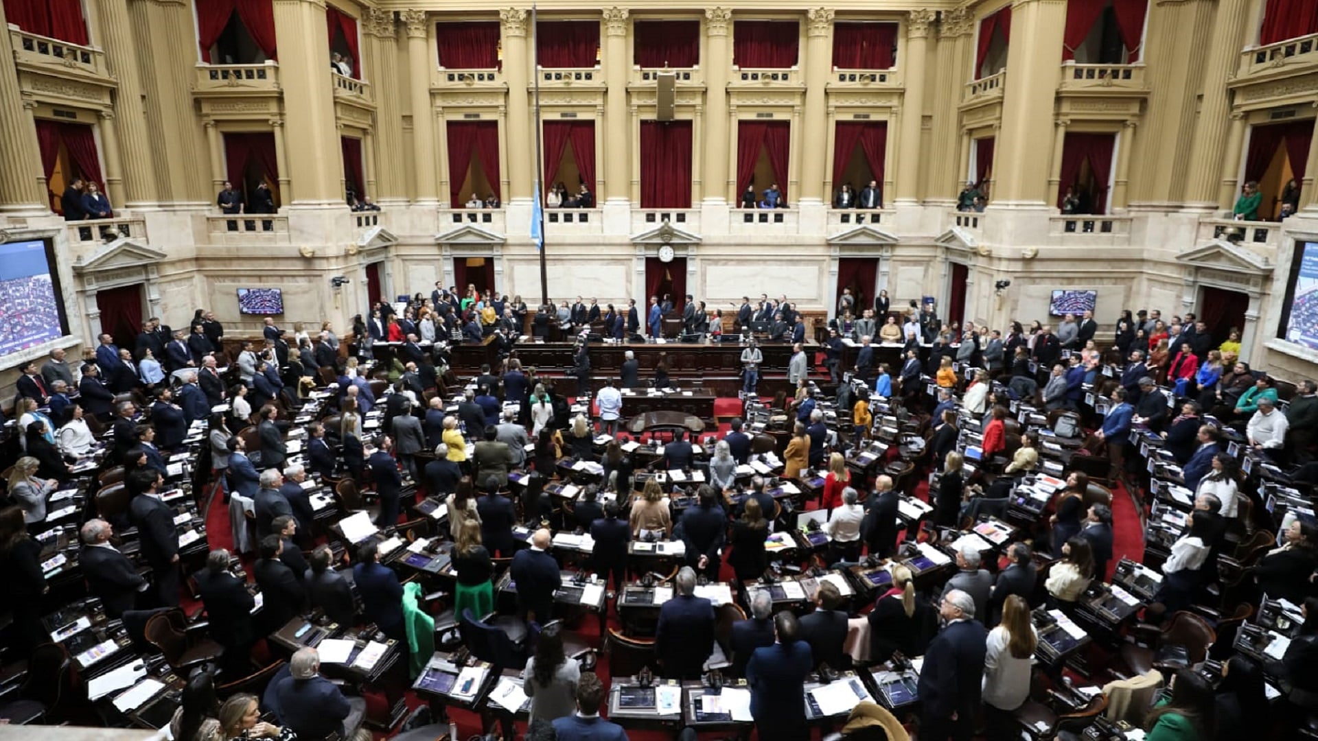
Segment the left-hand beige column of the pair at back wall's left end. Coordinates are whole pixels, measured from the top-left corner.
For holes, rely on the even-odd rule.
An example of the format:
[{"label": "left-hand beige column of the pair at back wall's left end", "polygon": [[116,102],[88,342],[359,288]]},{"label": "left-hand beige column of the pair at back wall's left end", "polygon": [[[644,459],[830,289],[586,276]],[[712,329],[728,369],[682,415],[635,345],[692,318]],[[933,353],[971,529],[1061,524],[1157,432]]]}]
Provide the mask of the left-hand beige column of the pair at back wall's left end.
[{"label": "left-hand beige column of the pair at back wall's left end", "polygon": [[[377,182],[366,193],[377,203],[402,203],[407,199],[407,169],[403,158],[402,105],[398,80],[398,32],[394,12],[366,8],[366,53],[369,54],[370,87],[376,91],[374,157],[380,169]],[[370,152],[370,148],[366,149]],[[369,179],[369,175],[368,175]]]}]

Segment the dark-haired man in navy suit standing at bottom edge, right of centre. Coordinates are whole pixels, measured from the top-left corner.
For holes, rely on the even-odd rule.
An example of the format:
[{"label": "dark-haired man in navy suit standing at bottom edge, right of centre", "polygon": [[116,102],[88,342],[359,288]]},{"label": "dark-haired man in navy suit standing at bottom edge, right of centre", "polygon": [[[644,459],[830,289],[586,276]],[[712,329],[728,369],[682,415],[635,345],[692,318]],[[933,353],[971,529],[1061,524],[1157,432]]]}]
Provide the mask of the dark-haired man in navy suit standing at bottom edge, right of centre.
[{"label": "dark-haired man in navy suit standing at bottom edge, right of centre", "polygon": [[788,610],[774,616],[772,646],[755,649],[746,665],[750,684],[750,715],[759,738],[788,741],[808,738],[805,726],[805,676],[813,668],[811,646],[799,639],[800,624]]}]

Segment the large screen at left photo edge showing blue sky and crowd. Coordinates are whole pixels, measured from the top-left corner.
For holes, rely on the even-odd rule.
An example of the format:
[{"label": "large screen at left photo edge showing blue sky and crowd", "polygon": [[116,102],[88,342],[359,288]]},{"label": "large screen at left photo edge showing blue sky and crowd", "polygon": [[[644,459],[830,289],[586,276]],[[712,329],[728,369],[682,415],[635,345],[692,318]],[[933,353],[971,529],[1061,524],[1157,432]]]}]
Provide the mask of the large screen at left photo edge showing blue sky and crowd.
[{"label": "large screen at left photo edge showing blue sky and crowd", "polygon": [[0,357],[69,334],[46,240],[0,244]]}]

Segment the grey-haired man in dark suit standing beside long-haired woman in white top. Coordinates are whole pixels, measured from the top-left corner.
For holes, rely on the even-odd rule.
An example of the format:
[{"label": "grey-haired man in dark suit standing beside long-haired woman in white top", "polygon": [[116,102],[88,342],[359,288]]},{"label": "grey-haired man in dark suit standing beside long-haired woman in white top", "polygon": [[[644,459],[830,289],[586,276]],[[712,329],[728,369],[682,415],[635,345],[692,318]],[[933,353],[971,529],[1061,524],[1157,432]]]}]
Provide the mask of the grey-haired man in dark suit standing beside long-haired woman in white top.
[{"label": "grey-haired man in dark suit standing beside long-haired woman in white top", "polygon": [[942,596],[938,614],[946,626],[929,642],[917,684],[923,704],[920,737],[970,741],[979,709],[988,633],[974,618],[974,599],[960,589]]}]

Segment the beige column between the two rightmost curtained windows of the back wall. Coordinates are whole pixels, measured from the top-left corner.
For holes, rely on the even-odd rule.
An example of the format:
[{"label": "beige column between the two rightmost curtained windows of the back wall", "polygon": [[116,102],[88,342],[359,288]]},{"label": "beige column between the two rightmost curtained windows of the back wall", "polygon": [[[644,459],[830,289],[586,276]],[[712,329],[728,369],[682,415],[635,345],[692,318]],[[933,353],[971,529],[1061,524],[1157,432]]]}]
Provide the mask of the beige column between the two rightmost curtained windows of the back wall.
[{"label": "beige column between the two rightmost curtained windows of the back wall", "polygon": [[[795,196],[801,204],[811,202],[830,203],[824,193],[826,171],[828,131],[828,78],[833,70],[833,9],[813,8],[807,11],[805,42],[805,109],[801,112],[801,169],[800,193]],[[793,132],[795,133],[795,132]]]}]

